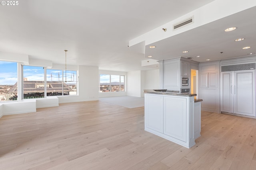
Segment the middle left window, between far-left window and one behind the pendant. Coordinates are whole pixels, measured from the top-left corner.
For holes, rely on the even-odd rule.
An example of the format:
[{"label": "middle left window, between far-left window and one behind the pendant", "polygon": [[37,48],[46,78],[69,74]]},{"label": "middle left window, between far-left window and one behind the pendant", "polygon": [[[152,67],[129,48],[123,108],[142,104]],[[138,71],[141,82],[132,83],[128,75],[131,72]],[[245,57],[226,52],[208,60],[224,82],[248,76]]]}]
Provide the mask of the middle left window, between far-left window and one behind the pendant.
[{"label": "middle left window, between far-left window and one behind the pendant", "polygon": [[23,98],[44,98],[44,67],[23,66]]}]

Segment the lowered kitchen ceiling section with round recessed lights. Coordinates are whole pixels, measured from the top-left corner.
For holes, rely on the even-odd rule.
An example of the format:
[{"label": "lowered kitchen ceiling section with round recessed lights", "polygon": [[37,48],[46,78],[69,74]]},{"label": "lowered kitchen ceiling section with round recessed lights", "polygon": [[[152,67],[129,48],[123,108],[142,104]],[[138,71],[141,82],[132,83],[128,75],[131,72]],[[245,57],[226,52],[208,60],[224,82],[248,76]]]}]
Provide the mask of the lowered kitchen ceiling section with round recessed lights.
[{"label": "lowered kitchen ceiling section with round recessed lights", "polygon": [[[256,55],[256,6],[146,46],[145,56],[162,60],[191,57],[198,62]],[[237,27],[225,32],[228,27]],[[245,38],[243,41],[234,41]],[[156,46],[150,49],[149,46]],[[242,49],[243,47],[250,49]],[[182,53],[188,51],[188,53]],[[223,52],[223,53],[221,53]],[[196,58],[195,56],[201,56]]]}]

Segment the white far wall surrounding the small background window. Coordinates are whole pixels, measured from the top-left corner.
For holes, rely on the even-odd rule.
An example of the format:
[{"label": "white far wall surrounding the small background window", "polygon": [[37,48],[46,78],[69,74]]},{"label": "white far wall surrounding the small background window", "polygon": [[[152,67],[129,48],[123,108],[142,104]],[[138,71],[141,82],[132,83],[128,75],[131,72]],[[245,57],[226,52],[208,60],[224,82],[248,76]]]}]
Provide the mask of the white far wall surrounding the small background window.
[{"label": "white far wall surrounding the small background window", "polygon": [[[126,76],[127,76],[127,72],[120,72],[120,71],[111,71],[111,70],[99,70],[99,74],[112,74],[112,75],[121,75],[124,76],[124,88],[125,88],[125,92],[99,92],[99,97],[113,97],[113,96],[126,96],[127,92],[126,92]],[[99,75],[98,75],[99,78]],[[98,84],[99,87],[99,84]],[[98,88],[99,91],[99,88]]]}]

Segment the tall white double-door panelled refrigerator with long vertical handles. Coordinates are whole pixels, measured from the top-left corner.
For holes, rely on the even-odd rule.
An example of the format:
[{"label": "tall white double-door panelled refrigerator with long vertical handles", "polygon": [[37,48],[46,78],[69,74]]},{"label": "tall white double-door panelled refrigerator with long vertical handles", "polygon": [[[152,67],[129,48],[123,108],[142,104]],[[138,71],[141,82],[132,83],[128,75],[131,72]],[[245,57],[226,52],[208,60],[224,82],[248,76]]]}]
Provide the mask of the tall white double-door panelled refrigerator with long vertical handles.
[{"label": "tall white double-door panelled refrigerator with long vertical handles", "polygon": [[221,72],[221,111],[256,116],[255,70]]}]

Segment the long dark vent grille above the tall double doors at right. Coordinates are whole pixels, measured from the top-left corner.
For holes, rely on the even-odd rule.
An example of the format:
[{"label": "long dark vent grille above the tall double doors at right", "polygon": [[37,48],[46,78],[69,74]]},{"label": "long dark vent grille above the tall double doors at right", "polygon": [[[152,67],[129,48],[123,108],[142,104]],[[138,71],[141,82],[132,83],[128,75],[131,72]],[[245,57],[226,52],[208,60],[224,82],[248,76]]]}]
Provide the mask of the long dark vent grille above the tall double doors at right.
[{"label": "long dark vent grille above the tall double doors at right", "polygon": [[256,69],[256,63],[221,66],[221,72],[241,71],[241,70],[255,70],[255,69]]}]

